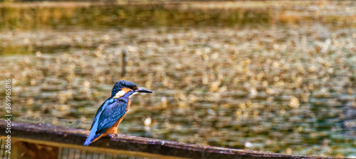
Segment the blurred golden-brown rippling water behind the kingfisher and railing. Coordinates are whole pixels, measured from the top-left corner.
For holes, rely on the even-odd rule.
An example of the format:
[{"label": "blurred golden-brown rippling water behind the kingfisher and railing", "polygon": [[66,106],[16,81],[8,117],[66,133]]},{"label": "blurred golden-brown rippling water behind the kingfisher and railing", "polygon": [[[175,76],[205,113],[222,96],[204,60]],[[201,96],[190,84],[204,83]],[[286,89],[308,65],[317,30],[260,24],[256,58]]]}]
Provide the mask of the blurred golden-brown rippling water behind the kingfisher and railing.
[{"label": "blurred golden-brown rippling water behind the kingfisher and railing", "polygon": [[355,43],[356,1],[1,1],[0,86],[14,120],[89,129],[128,80],[155,93],[122,134],[352,157]]}]

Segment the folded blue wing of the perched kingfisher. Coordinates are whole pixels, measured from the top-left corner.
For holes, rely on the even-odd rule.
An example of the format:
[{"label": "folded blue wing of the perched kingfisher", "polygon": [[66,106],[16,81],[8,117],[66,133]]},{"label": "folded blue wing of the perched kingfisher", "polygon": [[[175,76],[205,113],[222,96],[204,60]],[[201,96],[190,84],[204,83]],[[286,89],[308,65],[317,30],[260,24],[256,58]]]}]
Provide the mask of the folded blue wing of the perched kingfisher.
[{"label": "folded blue wing of the perched kingfisher", "polygon": [[100,114],[97,133],[105,133],[105,130],[116,123],[126,113],[127,101],[119,100],[108,104]]}]

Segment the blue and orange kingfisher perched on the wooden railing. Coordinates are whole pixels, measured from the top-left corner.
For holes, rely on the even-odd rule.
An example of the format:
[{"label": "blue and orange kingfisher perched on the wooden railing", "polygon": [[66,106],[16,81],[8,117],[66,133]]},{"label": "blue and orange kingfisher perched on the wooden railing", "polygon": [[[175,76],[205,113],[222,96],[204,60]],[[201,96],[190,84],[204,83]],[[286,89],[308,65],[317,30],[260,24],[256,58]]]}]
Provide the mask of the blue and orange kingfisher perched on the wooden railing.
[{"label": "blue and orange kingfisher perched on the wooden railing", "polygon": [[89,145],[105,135],[117,135],[117,126],[130,107],[130,98],[137,93],[153,93],[138,88],[130,81],[118,81],[112,88],[111,96],[98,109],[84,145]]}]

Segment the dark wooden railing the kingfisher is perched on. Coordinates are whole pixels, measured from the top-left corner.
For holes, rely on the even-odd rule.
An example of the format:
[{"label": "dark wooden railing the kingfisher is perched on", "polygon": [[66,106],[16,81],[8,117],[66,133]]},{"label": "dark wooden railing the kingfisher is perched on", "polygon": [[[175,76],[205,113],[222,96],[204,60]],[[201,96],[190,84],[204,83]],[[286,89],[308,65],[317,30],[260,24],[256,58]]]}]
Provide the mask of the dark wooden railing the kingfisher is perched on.
[{"label": "dark wooden railing the kingfisher is perched on", "polygon": [[[0,120],[0,158],[322,158],[236,150],[169,140],[118,135],[100,138],[90,146],[83,143],[88,130],[41,123],[11,122],[11,154],[5,120]],[[9,140],[8,140],[9,141]]]}]

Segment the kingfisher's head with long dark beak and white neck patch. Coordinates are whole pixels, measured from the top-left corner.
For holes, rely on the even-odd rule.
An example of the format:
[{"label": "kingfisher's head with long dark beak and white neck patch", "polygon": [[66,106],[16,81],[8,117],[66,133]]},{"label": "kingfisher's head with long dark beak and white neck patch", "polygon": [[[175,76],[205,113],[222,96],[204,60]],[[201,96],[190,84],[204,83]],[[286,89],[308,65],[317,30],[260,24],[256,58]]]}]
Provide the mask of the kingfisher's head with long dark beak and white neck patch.
[{"label": "kingfisher's head with long dark beak and white neck patch", "polygon": [[124,95],[130,97],[136,93],[153,93],[144,88],[138,88],[130,81],[118,81],[111,91],[111,98],[120,98]]}]

